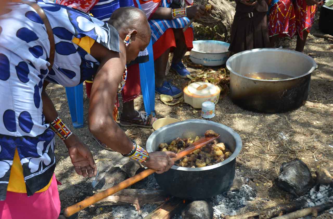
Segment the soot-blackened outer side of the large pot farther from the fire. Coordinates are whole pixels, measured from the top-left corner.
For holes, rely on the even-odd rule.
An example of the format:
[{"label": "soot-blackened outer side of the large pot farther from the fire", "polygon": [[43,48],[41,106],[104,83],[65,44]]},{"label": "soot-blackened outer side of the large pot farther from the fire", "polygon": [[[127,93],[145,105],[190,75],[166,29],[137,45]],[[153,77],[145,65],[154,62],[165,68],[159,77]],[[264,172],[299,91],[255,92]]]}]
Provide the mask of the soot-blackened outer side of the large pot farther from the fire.
[{"label": "soot-blackened outer side of the large pot farther from the fire", "polygon": [[[235,76],[234,77],[239,77]],[[241,78],[241,77],[239,77]],[[303,106],[308,99],[311,74],[288,81],[257,81],[249,80],[253,84],[261,84],[257,88],[242,87],[242,84],[230,85],[232,101],[238,106],[251,111],[276,113],[286,112]]]}]

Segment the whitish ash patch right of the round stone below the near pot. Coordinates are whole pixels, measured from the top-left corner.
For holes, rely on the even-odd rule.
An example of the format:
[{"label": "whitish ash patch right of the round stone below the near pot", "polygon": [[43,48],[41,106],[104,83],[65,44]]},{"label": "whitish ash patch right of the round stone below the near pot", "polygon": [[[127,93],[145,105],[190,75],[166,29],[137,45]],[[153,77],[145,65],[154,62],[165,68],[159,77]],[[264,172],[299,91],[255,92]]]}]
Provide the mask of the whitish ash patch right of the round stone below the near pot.
[{"label": "whitish ash patch right of the round stone below the near pot", "polygon": [[[221,214],[236,215],[247,201],[252,201],[255,197],[256,194],[250,186],[242,185],[239,190],[223,192],[210,198],[208,202],[213,206],[214,217],[220,218]],[[172,219],[182,219],[182,217],[176,215]]]}]

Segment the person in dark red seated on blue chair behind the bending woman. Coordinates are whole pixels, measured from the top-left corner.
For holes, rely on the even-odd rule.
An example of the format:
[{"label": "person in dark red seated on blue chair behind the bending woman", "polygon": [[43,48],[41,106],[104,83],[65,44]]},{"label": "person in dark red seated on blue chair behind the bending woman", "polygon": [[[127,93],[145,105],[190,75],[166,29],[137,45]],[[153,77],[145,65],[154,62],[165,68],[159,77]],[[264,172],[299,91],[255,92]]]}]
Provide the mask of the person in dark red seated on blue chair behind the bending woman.
[{"label": "person in dark red seated on blue chair behind the bending woman", "polygon": [[[95,18],[107,22],[110,19],[111,14],[120,7],[134,7],[133,0],[56,0],[57,4],[65,5],[77,10],[91,13]],[[122,90],[123,109],[120,113],[119,124],[121,126],[140,126],[146,128],[152,128],[154,121],[157,117],[147,116],[144,111],[137,111],[134,108],[134,99],[141,94],[140,86],[140,68],[139,63],[145,63],[149,61],[148,51],[145,49],[139,53],[139,56],[131,63],[127,64],[127,80]],[[90,98],[91,87],[93,84],[93,78],[86,82],[87,97]],[[116,104],[118,108],[118,103]],[[105,144],[94,138],[98,144],[104,149],[109,149]]]}]

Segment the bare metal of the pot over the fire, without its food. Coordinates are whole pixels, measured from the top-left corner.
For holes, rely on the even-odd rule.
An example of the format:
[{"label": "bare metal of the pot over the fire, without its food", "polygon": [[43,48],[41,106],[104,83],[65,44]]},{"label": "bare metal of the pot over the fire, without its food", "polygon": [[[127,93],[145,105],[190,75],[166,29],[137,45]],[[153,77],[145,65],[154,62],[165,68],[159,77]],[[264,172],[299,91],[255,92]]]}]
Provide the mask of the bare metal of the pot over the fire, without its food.
[{"label": "bare metal of the pot over the fire, without its food", "polygon": [[155,173],[156,181],[168,194],[183,199],[200,200],[226,191],[232,185],[236,156],[242,148],[242,141],[230,127],[202,119],[175,122],[153,132],[147,140],[146,148],[148,152],[153,152],[158,150],[160,143],[170,143],[176,137],[203,136],[208,129],[221,135],[219,141],[233,152],[232,155],[211,166],[189,168],[173,165],[167,172]]}]

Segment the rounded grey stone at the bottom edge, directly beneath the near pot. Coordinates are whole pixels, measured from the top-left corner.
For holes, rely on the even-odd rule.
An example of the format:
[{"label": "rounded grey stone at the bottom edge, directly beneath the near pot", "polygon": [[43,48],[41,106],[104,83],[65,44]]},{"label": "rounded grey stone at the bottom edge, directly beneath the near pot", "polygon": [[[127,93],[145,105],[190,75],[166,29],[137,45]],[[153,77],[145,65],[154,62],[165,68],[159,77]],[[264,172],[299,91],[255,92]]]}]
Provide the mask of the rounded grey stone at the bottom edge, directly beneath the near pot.
[{"label": "rounded grey stone at the bottom edge, directly beneath the near pot", "polygon": [[193,201],[181,212],[182,219],[212,219],[213,207],[206,201]]}]

